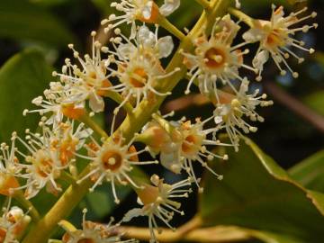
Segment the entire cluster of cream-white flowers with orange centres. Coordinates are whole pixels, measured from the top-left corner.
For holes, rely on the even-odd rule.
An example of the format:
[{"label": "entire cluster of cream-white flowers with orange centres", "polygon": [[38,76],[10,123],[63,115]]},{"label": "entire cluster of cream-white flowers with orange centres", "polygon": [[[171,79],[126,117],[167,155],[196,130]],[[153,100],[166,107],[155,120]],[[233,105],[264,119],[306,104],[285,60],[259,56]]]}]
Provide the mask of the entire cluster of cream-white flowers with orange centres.
[{"label": "entire cluster of cream-white flowers with orange centres", "polygon": [[[238,8],[240,1],[235,3]],[[284,8],[273,5],[270,20],[255,20],[232,9],[231,15],[215,16],[197,34],[185,35],[166,20],[180,4],[180,0],[165,0],[161,5],[152,0],[112,2],[119,15],[111,14],[102,21],[108,43],[101,43],[92,31],[90,54],[82,55],[73,44],[68,45],[73,58],[65,59],[61,70],[53,72],[56,81],[31,101],[36,108],[23,111],[24,115],[40,114],[38,129],[13,132],[11,143],[0,146],[0,194],[10,199],[23,194],[29,202],[41,190],[59,195],[65,190],[62,181],[76,187],[90,184],[90,192],[106,183],[111,184],[114,202],[119,203],[117,185],[128,185],[138,194],[141,207],[127,212],[121,222],[146,216],[150,241],[157,242],[158,222],[174,229],[170,220],[175,213],[184,214],[177,200],[188,197],[193,188],[203,193],[196,164],[222,179],[212,164],[215,158],[230,157],[217,148],[238,151],[243,135],[257,131],[255,122],[265,121],[257,108],[273,104],[261,88],[250,84],[262,80],[270,57],[281,75],[287,69],[298,76],[287,59],[293,56],[301,63],[304,58],[294,49],[309,53],[314,49],[297,40],[296,33],[318,25],[295,25],[316,13],[303,16],[304,8],[284,16]],[[241,21],[250,27],[243,34]],[[123,24],[130,25],[129,36],[122,33]],[[160,36],[161,27],[171,35]],[[184,36],[186,44],[175,50],[177,41],[172,35],[180,40]],[[250,51],[254,43],[256,53]],[[166,65],[173,54],[177,61]],[[174,112],[161,114],[157,108],[172,94],[170,80],[174,78],[186,79],[184,95],[196,86],[213,110],[203,118],[175,121],[169,120]],[[109,134],[93,119],[105,110],[105,99],[117,103]],[[126,125],[116,129],[121,109],[127,113]],[[220,137],[221,133],[227,136]],[[141,161],[143,153],[154,158]],[[136,167],[157,164],[186,178],[169,184],[158,175],[151,175],[150,180],[133,175]],[[28,220],[21,209],[8,207],[0,221],[0,242],[18,242]],[[67,231],[62,238],[65,243],[135,242],[122,240],[120,223],[112,225],[112,221],[103,225],[84,216],[82,229],[64,219],[59,225]]]}]

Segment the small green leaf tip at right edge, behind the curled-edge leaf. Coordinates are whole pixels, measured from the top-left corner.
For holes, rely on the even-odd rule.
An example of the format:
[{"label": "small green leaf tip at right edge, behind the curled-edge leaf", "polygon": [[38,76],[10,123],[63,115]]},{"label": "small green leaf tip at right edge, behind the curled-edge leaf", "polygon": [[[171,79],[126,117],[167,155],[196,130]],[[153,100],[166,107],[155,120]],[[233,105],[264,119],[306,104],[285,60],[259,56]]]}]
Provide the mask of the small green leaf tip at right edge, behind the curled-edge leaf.
[{"label": "small green leaf tip at right edge, behind the curled-edge leaf", "polygon": [[324,150],[293,166],[289,175],[308,189],[324,193]]}]

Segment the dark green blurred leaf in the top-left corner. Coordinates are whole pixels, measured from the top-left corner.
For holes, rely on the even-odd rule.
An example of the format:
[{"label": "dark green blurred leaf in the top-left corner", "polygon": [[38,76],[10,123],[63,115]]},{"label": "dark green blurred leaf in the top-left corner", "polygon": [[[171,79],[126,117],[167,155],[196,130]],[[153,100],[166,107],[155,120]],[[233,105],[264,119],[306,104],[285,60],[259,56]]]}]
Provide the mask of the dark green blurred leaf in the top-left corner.
[{"label": "dark green blurred leaf in the top-left corner", "polygon": [[58,18],[23,0],[0,1],[0,36],[37,40],[55,47],[76,42],[74,35]]}]

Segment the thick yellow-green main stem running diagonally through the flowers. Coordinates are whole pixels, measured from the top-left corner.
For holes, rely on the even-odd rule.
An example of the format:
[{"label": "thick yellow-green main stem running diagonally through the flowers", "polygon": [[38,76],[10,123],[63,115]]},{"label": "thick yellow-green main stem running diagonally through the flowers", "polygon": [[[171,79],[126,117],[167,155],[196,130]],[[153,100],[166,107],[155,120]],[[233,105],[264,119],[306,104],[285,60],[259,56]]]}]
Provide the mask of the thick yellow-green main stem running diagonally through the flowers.
[{"label": "thick yellow-green main stem running diagonally through the flowers", "polygon": [[[229,7],[229,0],[213,0],[211,1],[211,13],[208,14],[208,18],[215,19],[219,15],[225,14],[227,8]],[[163,80],[163,85],[161,85],[161,92],[166,93],[172,91],[175,85],[185,76],[186,68],[183,65],[183,56],[180,54],[180,49],[184,51],[193,50],[193,39],[197,38],[201,31],[202,26],[207,22],[207,15],[202,14],[199,21],[193,27],[193,30],[189,32],[184,40],[181,41],[179,49],[176,50],[175,56],[170,61],[169,65],[166,67],[166,72],[172,71],[175,67],[181,67],[181,71],[176,72],[174,76],[169,76]],[[207,22],[207,30],[211,30],[212,22]],[[138,132],[150,119],[154,112],[157,112],[159,106],[166,99],[165,96],[158,96],[156,102],[151,103],[143,100],[139,104],[139,109],[136,110],[131,116],[128,115],[126,119],[121,123],[121,126],[115,132],[121,132],[122,136],[126,139],[125,142],[130,141],[136,132]],[[93,126],[100,134],[107,137],[103,130],[97,130],[90,118],[86,118],[87,124]],[[84,122],[85,122],[84,121]],[[85,168],[85,171],[89,170],[89,166]],[[88,188],[91,186],[91,182],[88,180],[83,181],[81,184],[72,184],[67,188],[67,191],[58,199],[58,202],[49,210],[43,219],[31,229],[29,234],[24,238],[23,243],[45,243],[50,237],[53,229],[55,229],[60,220],[66,219],[69,213],[76,207],[78,202],[82,200],[85,193],[88,192]]]}]

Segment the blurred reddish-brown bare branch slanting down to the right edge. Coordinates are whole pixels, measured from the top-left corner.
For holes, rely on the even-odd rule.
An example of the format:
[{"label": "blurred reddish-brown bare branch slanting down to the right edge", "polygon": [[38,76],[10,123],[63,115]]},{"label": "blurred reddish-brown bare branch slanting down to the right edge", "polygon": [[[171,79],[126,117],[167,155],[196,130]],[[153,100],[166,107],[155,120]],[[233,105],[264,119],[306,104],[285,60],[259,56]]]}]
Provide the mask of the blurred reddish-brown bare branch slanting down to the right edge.
[{"label": "blurred reddish-brown bare branch slanting down to the right edge", "polygon": [[265,88],[268,94],[271,94],[275,101],[282,103],[292,112],[296,113],[303,120],[310,122],[316,129],[324,133],[324,117],[317,112],[312,111],[308,106],[297,100],[293,95],[288,94],[274,82],[266,81]]}]

